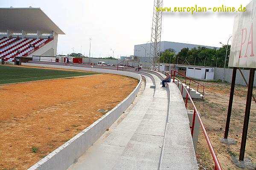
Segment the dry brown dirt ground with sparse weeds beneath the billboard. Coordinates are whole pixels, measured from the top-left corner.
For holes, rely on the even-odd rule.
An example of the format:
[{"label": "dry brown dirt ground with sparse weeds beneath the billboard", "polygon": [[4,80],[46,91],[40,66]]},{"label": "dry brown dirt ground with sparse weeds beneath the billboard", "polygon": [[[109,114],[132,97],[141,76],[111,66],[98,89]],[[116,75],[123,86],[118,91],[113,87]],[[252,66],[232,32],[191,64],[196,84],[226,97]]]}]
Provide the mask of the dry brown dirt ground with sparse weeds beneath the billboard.
[{"label": "dry brown dirt ground with sparse weeds beneath the billboard", "polygon": [[[200,81],[199,81],[200,82]],[[195,99],[195,105],[201,114],[201,118],[211,139],[212,145],[217,153],[223,170],[241,170],[233,159],[239,158],[241,135],[244,122],[244,110],[246,105],[247,88],[236,85],[233,100],[232,116],[230,121],[229,138],[235,139],[236,144],[227,145],[219,141],[224,137],[224,130],[227,119],[227,108],[230,95],[230,84],[226,82],[201,82],[205,85],[204,100]],[[253,89],[256,94],[256,89]],[[189,104],[189,108],[192,105]],[[247,135],[245,157],[256,164],[256,104],[251,103],[250,122]],[[214,164],[209,153],[208,145],[202,131],[198,139],[197,159],[200,170],[212,170]],[[245,168],[253,169],[253,168]]]}]

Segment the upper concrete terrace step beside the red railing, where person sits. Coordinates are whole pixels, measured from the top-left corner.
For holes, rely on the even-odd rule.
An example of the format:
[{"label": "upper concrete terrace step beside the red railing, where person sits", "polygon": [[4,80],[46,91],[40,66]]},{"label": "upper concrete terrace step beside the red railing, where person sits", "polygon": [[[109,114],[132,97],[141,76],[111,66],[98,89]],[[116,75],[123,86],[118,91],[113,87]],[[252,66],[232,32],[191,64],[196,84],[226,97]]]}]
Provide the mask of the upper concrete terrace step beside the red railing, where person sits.
[{"label": "upper concrete terrace step beside the red railing, where person sits", "polygon": [[189,128],[189,119],[181,94],[175,83],[170,90],[169,116],[166,124],[160,170],[198,170]]}]

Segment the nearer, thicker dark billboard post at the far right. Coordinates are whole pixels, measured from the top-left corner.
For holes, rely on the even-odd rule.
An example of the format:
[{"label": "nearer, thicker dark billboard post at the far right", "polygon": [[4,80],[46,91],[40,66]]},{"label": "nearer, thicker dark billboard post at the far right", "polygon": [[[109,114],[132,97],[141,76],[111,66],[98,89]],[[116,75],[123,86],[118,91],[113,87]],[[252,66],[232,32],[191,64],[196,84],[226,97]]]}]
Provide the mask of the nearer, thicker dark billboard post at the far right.
[{"label": "nearer, thicker dark billboard post at the far right", "polygon": [[251,106],[252,94],[253,94],[254,73],[255,73],[255,68],[250,68],[247,99],[246,99],[246,106],[245,106],[245,113],[244,113],[244,127],[243,127],[242,139],[241,139],[239,161],[244,161],[244,152],[245,152],[248,124],[249,124],[249,118],[250,118],[250,106]]}]

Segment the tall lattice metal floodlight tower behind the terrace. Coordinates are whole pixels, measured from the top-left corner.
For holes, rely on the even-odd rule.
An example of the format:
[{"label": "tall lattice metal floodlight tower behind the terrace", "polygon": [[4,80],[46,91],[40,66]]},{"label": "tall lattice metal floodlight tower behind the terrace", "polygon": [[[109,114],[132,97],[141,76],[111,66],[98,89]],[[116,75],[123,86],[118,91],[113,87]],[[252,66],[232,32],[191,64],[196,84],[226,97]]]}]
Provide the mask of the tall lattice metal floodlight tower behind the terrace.
[{"label": "tall lattice metal floodlight tower behind the terrace", "polygon": [[149,67],[159,71],[159,57],[160,57],[160,42],[161,42],[161,29],[162,29],[162,11],[163,0],[154,0],[154,12],[152,21],[151,43],[150,43],[150,56]]}]

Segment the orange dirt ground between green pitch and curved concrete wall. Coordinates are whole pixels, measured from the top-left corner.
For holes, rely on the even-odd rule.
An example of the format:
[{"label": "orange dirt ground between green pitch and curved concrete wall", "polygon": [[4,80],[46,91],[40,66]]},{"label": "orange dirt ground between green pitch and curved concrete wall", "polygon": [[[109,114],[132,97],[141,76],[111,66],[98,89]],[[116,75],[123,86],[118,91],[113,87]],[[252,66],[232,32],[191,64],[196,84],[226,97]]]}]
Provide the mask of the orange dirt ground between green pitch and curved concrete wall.
[{"label": "orange dirt ground between green pitch and curved concrete wall", "polygon": [[0,85],[0,170],[26,170],[111,110],[138,81],[111,74]]}]

